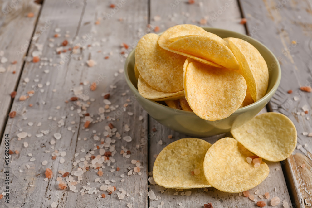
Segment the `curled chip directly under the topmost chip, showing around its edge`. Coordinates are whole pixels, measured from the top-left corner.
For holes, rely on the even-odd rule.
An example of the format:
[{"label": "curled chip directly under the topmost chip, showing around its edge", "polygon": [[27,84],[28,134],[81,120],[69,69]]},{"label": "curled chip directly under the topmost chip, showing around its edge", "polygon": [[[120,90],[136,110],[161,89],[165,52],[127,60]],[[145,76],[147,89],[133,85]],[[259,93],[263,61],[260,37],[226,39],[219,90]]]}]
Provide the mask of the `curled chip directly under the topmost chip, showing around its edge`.
[{"label": "curled chip directly under the topmost chip, showing around its edge", "polygon": [[201,27],[198,27],[196,25],[188,25],[188,24],[176,25],[176,26],[170,27],[169,29],[167,29],[166,31],[163,32],[163,34],[159,37],[158,44],[159,44],[160,47],[162,47],[163,49],[165,49],[167,51],[171,51],[173,53],[177,53],[177,54],[180,54],[180,55],[183,55],[183,56],[187,56],[189,58],[198,60],[198,61],[200,61],[200,62],[202,62],[204,64],[207,64],[207,65],[211,65],[211,66],[214,66],[214,67],[222,68],[222,66],[220,66],[218,64],[215,64],[215,63],[213,63],[211,61],[208,61],[208,60],[196,57],[196,56],[192,56],[190,54],[186,54],[184,52],[180,52],[180,51],[176,51],[176,50],[173,50],[171,48],[168,48],[168,45],[170,43],[172,43],[172,41],[169,40],[170,36],[176,34],[177,32],[190,31],[190,30],[198,31],[198,32],[206,32],[204,29],[202,29]]}]

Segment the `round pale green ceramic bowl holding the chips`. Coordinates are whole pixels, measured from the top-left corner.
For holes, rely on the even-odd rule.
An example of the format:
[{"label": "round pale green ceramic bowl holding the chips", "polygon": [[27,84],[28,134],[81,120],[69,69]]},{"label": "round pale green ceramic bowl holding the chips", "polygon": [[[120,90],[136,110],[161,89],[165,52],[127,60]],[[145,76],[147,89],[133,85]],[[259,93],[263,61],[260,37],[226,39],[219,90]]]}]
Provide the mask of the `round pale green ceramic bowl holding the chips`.
[{"label": "round pale green ceramic bowl holding the chips", "polygon": [[226,133],[229,132],[231,128],[241,126],[245,122],[252,119],[269,102],[280,84],[281,78],[281,70],[278,60],[274,54],[259,41],[256,41],[249,36],[229,30],[210,27],[203,27],[203,29],[217,34],[222,38],[236,37],[244,39],[259,50],[263,58],[266,60],[269,68],[269,86],[266,95],[263,98],[253,104],[237,109],[232,115],[225,119],[219,121],[207,121],[199,118],[193,112],[172,109],[153,100],[142,97],[137,89],[137,80],[134,76],[135,49],[130,52],[124,65],[124,73],[127,84],[134,93],[134,98],[139,102],[139,104],[142,105],[148,114],[168,128],[195,137],[207,137]]}]

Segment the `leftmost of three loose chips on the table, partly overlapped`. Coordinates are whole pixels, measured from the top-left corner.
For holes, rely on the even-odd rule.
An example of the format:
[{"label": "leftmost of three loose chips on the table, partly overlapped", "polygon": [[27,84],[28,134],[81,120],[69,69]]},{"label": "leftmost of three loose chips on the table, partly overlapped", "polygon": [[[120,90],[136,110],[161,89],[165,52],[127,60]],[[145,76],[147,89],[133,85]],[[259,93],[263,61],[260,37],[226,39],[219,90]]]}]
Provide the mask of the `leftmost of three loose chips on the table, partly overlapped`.
[{"label": "leftmost of three loose chips on the table, partly overlapped", "polygon": [[165,188],[210,187],[203,170],[204,157],[210,146],[205,140],[196,138],[168,144],[154,162],[154,181]]}]

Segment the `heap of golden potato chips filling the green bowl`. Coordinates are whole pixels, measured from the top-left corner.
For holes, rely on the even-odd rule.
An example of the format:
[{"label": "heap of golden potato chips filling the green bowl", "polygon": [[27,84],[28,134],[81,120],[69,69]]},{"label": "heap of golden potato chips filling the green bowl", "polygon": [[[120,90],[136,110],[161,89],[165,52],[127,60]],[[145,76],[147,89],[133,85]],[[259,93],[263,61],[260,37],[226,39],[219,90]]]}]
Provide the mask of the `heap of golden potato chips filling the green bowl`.
[{"label": "heap of golden potato chips filling the green bowl", "polygon": [[253,45],[187,24],[143,36],[135,49],[135,76],[144,98],[175,101],[168,107],[182,110],[185,99],[184,109],[208,121],[261,99],[269,82],[266,61]]}]

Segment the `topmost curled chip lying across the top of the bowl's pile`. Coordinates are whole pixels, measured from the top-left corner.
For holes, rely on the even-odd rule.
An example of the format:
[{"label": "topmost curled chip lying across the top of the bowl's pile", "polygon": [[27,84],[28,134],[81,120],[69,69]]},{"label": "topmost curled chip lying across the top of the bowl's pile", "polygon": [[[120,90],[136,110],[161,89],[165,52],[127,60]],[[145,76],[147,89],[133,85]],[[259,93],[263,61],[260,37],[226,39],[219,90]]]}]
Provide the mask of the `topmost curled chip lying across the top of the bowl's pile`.
[{"label": "topmost curled chip lying across the top of the bowl's pile", "polygon": [[239,70],[239,64],[232,51],[221,41],[211,37],[189,36],[180,38],[170,43],[168,48],[187,54],[185,56],[189,54],[227,69]]}]

